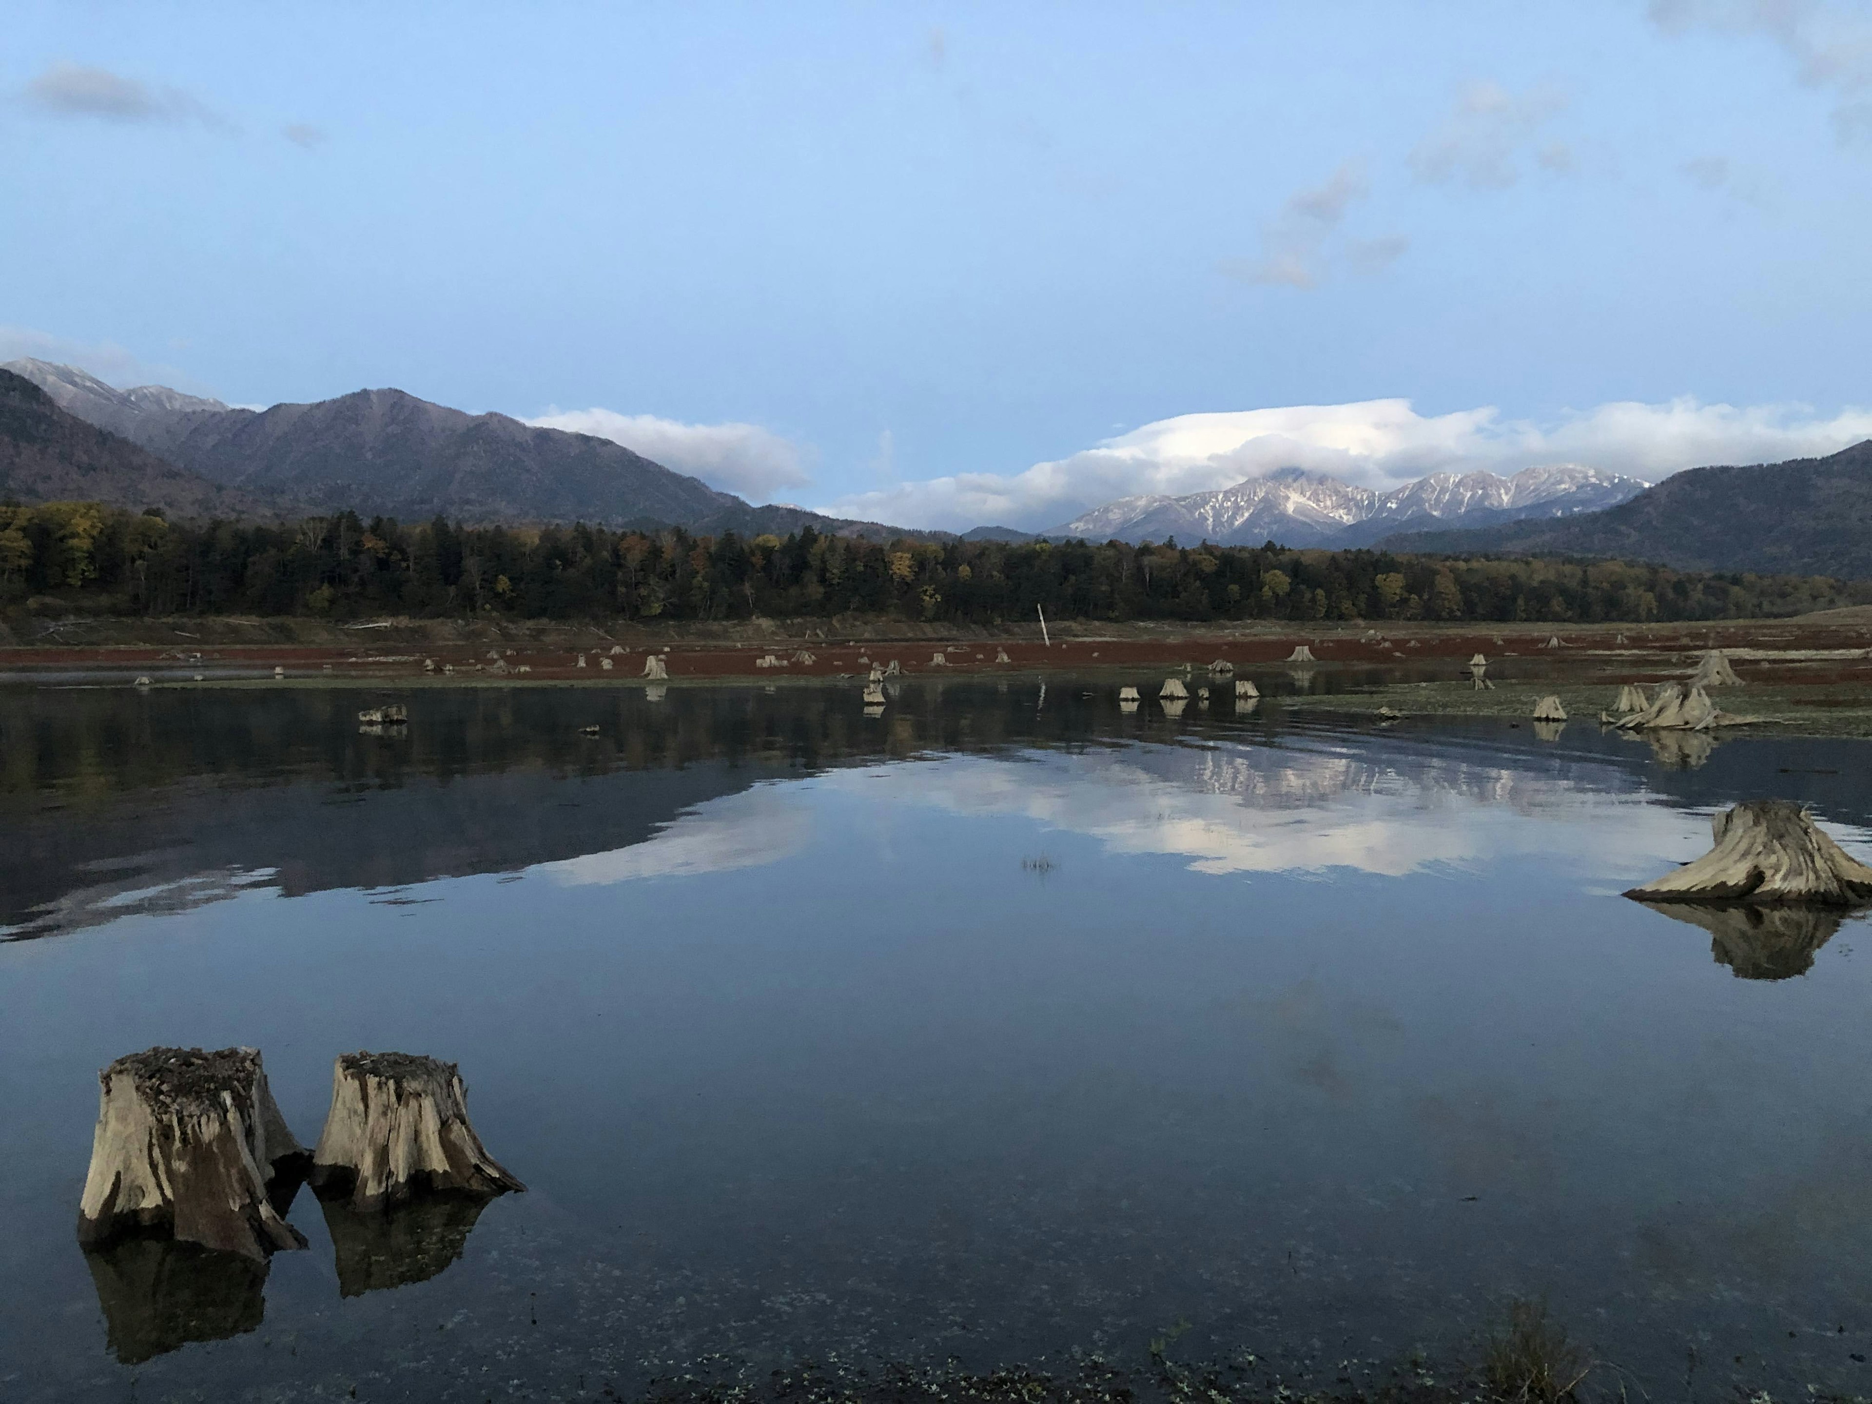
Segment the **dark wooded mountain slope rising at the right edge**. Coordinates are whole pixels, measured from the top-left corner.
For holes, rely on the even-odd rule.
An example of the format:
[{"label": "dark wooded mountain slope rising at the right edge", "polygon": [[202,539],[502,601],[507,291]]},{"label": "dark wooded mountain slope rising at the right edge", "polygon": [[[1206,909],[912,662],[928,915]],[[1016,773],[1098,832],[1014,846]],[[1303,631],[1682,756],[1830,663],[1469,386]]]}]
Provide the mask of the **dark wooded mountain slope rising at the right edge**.
[{"label": "dark wooded mountain slope rising at the right edge", "polygon": [[1825,459],[1690,468],[1567,520],[1411,532],[1397,550],[1653,560],[1685,571],[1872,578],[1872,440]]}]

